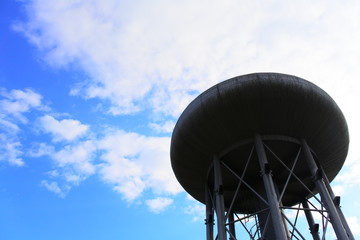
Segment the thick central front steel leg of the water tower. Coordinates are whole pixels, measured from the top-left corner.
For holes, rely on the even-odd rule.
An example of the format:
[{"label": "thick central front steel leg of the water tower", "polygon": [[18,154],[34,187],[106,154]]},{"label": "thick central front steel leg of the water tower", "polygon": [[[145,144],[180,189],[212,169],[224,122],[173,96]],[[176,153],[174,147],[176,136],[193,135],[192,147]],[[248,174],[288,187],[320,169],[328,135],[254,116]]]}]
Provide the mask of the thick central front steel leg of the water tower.
[{"label": "thick central front steel leg of the water tower", "polygon": [[269,203],[270,214],[277,240],[287,240],[286,228],[284,225],[284,219],[281,215],[281,211],[278,204],[278,197],[274,187],[274,182],[271,177],[271,172],[268,165],[268,160],[265,154],[264,145],[260,138],[260,135],[255,136],[255,147],[258,155],[259,165],[262,173],[264,187],[266,191],[267,201]]}]

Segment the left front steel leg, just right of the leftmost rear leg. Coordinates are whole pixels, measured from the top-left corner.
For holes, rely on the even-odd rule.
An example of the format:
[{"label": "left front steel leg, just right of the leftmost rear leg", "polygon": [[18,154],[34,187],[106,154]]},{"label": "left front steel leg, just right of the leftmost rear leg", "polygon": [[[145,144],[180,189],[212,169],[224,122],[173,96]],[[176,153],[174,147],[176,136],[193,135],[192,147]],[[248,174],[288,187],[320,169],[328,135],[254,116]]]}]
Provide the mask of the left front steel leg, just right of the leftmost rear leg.
[{"label": "left front steel leg, just right of the leftmost rear leg", "polygon": [[215,211],[217,216],[218,240],[226,240],[225,207],[220,160],[214,156]]}]

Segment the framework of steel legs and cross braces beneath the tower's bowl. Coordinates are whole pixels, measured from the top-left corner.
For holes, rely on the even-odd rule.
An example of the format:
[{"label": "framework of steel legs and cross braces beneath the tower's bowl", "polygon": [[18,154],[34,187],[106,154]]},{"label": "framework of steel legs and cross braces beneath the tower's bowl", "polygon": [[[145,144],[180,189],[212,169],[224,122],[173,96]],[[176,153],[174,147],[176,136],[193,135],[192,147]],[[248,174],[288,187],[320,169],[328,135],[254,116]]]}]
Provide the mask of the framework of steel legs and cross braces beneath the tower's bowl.
[{"label": "framework of steel legs and cross braces beneath the tower's bowl", "polygon": [[214,156],[205,192],[207,240],[354,239],[304,139],[255,135],[230,146]]}]

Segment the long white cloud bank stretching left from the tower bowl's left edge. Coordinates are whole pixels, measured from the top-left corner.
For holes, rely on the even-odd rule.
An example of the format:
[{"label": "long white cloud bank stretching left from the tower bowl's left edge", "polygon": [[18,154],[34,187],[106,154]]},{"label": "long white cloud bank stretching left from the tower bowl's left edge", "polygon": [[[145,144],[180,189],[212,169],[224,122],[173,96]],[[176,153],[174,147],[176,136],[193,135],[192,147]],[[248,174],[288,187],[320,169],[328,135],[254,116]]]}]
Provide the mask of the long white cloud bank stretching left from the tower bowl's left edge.
[{"label": "long white cloud bank stretching left from the tower bowl's left edge", "polygon": [[147,137],[111,130],[99,139],[65,146],[34,146],[30,155],[48,156],[54,170],[48,176],[63,181],[70,189],[89,176],[99,174],[128,202],[149,190],[154,195],[175,195],[182,188],[171,169],[168,137]]}]

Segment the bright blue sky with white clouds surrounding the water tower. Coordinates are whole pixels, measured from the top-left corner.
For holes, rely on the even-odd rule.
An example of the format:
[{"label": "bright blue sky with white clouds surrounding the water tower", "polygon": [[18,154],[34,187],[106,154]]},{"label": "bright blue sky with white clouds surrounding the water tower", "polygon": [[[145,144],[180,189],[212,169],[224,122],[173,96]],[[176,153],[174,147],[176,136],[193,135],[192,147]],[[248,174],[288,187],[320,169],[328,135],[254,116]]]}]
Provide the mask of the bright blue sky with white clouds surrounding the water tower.
[{"label": "bright blue sky with white clouds surrounding the water tower", "polygon": [[280,72],[350,131],[332,186],[360,237],[360,2],[1,0],[0,239],[205,239],[174,124],[228,78]]}]

